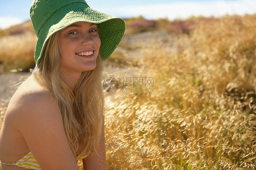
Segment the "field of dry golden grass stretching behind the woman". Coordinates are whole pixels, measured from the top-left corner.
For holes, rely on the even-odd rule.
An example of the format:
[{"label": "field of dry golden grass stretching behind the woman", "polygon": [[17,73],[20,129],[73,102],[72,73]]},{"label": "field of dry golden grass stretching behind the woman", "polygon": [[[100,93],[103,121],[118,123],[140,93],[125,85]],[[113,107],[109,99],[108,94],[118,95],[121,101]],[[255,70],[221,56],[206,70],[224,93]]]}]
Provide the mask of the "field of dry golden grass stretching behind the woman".
[{"label": "field of dry golden grass stretching behind the woman", "polygon": [[[138,20],[127,21],[125,37],[148,27],[169,31],[169,39],[124,39],[106,63],[115,71],[104,76],[119,83],[126,75],[154,77],[154,85],[106,93],[108,169],[255,170],[256,16]],[[0,62],[11,63],[0,51]],[[7,104],[0,103],[1,121]]]}]

